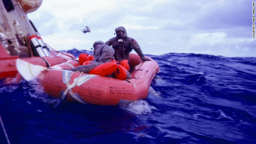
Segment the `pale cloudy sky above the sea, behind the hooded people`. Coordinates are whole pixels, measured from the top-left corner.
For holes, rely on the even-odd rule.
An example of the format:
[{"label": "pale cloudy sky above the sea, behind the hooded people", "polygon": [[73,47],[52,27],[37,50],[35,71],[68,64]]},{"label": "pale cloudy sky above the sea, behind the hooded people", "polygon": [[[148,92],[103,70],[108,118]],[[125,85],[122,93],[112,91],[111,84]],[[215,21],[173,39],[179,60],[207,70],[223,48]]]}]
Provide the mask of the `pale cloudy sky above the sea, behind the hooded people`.
[{"label": "pale cloudy sky above the sea, behind the hooded people", "polygon": [[144,54],[256,56],[252,0],[44,0],[28,17],[56,50],[90,50],[124,26]]}]

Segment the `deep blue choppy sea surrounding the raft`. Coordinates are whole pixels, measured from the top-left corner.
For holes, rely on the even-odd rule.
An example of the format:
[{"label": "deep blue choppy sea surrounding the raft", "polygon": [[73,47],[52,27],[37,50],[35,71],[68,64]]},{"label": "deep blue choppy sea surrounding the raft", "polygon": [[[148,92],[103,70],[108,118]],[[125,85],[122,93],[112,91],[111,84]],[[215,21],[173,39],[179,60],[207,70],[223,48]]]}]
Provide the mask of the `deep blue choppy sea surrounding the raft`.
[{"label": "deep blue choppy sea surrounding the raft", "polygon": [[[65,102],[45,94],[36,81],[1,80],[0,116],[10,143],[256,143],[256,57],[148,56],[160,72],[148,98],[130,106]],[[2,127],[0,144],[7,144]]]}]

